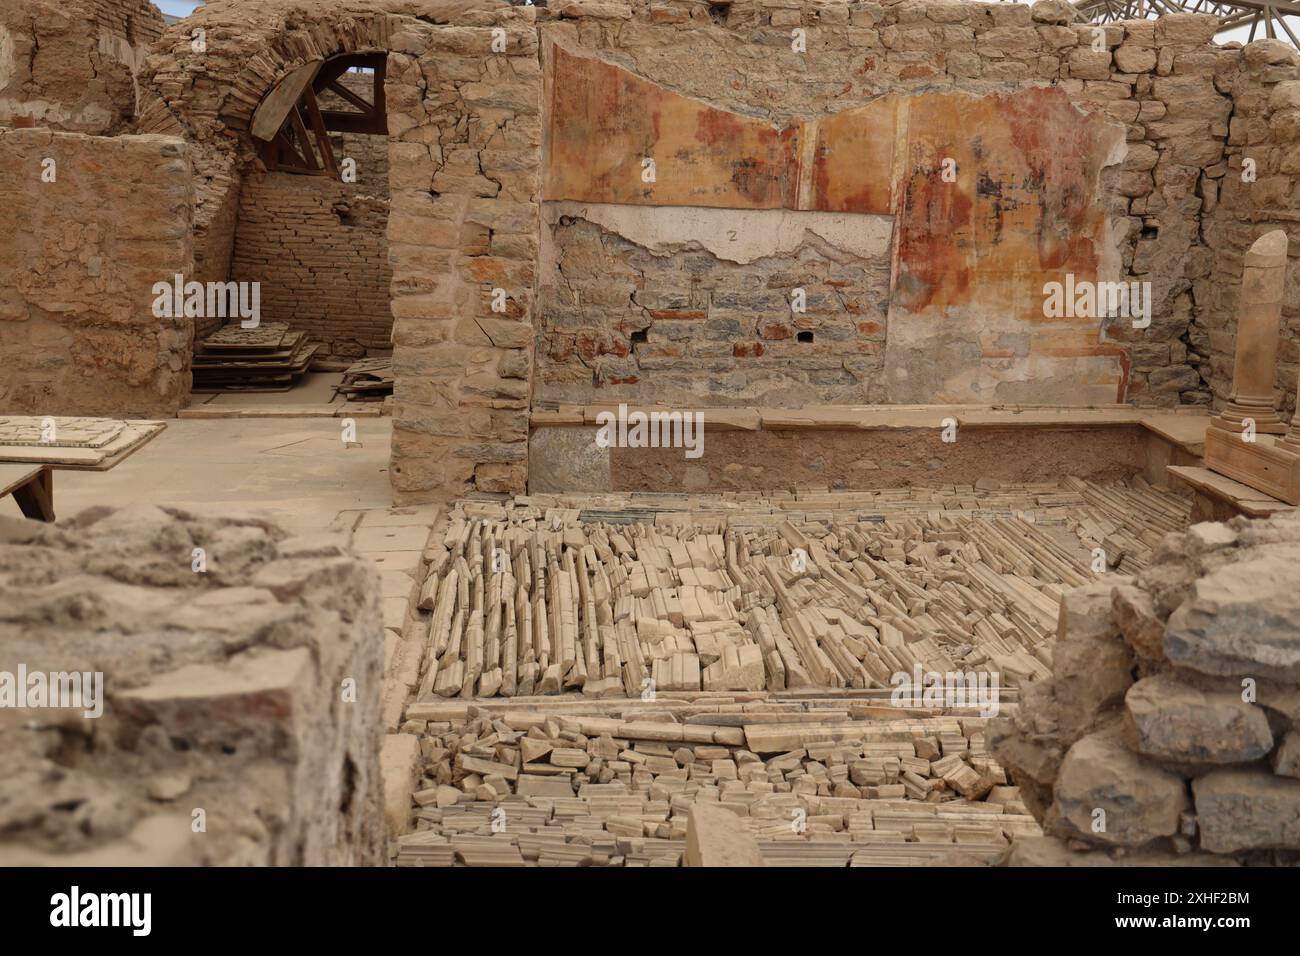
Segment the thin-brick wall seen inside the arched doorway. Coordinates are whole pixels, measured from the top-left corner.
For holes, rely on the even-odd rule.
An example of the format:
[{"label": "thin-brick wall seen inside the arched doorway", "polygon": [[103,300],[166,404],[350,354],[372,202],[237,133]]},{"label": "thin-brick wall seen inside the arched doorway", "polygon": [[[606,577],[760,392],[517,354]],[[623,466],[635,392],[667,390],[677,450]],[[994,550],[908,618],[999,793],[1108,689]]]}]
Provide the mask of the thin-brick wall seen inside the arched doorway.
[{"label": "thin-brick wall seen inside the arched doorway", "polygon": [[355,183],[264,172],[244,179],[230,278],[261,282],[263,321],[308,333],[325,345],[320,358],[358,358],[391,347],[387,140],[333,140],[335,159],[356,160]]}]

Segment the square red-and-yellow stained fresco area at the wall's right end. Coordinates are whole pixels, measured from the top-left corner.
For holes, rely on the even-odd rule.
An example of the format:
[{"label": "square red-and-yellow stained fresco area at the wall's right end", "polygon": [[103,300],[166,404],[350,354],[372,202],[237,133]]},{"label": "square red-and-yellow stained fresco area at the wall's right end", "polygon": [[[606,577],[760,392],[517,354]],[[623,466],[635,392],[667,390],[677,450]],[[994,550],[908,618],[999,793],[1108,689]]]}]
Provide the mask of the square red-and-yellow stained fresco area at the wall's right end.
[{"label": "square red-and-yellow stained fresco area at the wall's right end", "polygon": [[[957,103],[957,99],[961,103]],[[898,302],[913,312],[976,304],[1044,321],[1043,284],[1095,278],[1105,216],[1102,124],[1058,88],[910,104],[898,220]],[[976,137],[956,135],[952,117]],[[944,182],[944,159],[957,182]]]}]

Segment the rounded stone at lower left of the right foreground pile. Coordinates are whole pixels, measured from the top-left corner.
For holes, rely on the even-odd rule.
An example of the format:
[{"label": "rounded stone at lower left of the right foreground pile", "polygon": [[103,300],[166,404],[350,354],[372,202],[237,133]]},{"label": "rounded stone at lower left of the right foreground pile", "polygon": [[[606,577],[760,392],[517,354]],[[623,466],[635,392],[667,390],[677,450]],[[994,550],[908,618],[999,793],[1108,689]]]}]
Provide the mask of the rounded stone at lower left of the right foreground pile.
[{"label": "rounded stone at lower left of the right foreground pile", "polygon": [[1176,834],[1187,809],[1182,778],[1144,762],[1118,735],[1098,732],[1066,752],[1049,822],[1058,819],[1067,835],[1140,847]]}]

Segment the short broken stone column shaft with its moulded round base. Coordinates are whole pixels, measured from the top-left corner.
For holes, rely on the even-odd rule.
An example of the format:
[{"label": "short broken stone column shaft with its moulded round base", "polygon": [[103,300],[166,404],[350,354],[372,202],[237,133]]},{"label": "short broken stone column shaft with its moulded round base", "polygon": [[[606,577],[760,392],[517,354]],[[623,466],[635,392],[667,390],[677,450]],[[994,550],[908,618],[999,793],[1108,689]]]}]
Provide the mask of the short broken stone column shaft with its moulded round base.
[{"label": "short broken stone column shaft with its moulded round base", "polygon": [[1210,424],[1242,432],[1245,419],[1253,419],[1256,432],[1282,434],[1286,424],[1274,407],[1273,377],[1278,364],[1287,234],[1274,229],[1261,235],[1245,254],[1244,265],[1238,303],[1232,398],[1222,415]]}]

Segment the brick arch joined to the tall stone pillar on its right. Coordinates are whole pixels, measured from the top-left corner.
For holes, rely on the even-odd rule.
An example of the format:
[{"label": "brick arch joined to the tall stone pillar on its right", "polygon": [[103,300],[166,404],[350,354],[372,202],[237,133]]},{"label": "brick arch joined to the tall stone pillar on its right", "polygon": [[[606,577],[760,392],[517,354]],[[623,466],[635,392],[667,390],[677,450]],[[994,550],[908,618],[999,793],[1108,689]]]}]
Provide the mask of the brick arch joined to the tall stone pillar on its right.
[{"label": "brick arch joined to the tall stone pillar on its right", "polygon": [[520,493],[542,142],[536,10],[506,0],[434,0],[419,16],[403,0],[350,8],[359,5],[209,3],[155,47],[138,130],[191,144],[203,280],[222,268],[263,98],[312,60],[386,52],[394,499]]}]

